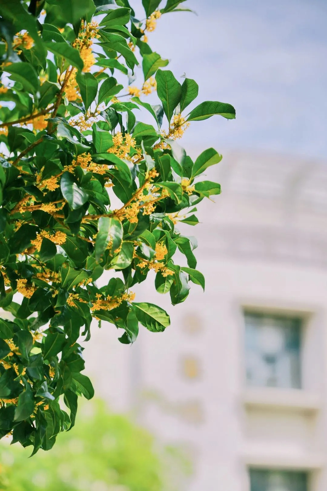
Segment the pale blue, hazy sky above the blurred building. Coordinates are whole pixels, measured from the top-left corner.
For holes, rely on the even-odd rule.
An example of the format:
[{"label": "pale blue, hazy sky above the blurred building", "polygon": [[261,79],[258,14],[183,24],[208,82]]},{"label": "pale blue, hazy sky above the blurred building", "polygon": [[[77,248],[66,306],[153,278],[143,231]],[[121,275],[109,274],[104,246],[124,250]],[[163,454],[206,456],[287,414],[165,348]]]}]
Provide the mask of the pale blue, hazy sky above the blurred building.
[{"label": "pale blue, hazy sky above the blurred building", "polygon": [[199,102],[231,103],[237,119],[194,122],[183,146],[324,159],[327,1],[189,0],[184,5],[198,16],[163,16],[149,44],[171,59],[167,68],[177,79],[185,72],[199,83]]}]

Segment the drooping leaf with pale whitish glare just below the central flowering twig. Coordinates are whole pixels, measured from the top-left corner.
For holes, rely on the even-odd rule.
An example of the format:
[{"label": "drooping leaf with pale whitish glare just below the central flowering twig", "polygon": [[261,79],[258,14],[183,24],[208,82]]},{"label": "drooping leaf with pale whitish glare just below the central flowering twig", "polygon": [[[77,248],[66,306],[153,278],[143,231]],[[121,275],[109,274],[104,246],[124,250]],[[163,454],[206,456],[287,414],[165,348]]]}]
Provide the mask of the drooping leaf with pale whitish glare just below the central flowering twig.
[{"label": "drooping leaf with pale whitish glare just below the central flowering twig", "polygon": [[118,218],[101,217],[98,221],[95,253],[99,262],[111,242],[110,252],[118,249],[123,241],[123,226]]}]

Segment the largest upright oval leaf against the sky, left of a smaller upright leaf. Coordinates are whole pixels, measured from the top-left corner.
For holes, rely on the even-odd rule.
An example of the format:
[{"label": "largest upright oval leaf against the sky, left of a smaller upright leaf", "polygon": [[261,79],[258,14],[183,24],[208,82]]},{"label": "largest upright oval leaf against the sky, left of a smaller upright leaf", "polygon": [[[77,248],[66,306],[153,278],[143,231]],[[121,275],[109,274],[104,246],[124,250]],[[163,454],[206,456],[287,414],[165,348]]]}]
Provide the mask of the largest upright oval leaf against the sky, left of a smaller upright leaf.
[{"label": "largest upright oval leaf against the sky, left of a smaller upright leaf", "polygon": [[157,82],[158,97],[170,123],[174,109],[181,98],[181,85],[170,70],[157,70],[155,80]]}]

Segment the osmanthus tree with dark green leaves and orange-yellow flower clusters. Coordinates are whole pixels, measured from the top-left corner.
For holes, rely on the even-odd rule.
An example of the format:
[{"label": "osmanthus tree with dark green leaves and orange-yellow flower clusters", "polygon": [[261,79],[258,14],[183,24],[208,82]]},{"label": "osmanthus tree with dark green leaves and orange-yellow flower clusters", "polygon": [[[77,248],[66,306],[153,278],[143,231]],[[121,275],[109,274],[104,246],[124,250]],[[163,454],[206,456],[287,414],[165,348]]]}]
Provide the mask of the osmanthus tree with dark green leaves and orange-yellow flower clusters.
[{"label": "osmanthus tree with dark green leaves and orange-yellow flower clusters", "polygon": [[[170,322],[134,301],[151,270],[174,305],[190,281],[204,288],[196,244],[176,224],[195,225],[195,205],[219,194],[201,173],[222,157],[210,148],[193,162],[176,139],[235,109],[189,110],[197,83],[162,70],[168,60],[148,44],[160,16],[183,5],[142,3],[140,21],[128,0],[0,2],[0,307],[14,319],[0,320],[0,436],[33,453],[72,428],[78,395],[93,396],[77,342],[89,340],[92,318],[132,343],[139,323],[156,332]],[[144,78],[131,85],[139,64]],[[144,111],[153,124],[136,119]],[[175,264],[177,249],[187,266]],[[112,277],[99,287],[104,270]]]}]

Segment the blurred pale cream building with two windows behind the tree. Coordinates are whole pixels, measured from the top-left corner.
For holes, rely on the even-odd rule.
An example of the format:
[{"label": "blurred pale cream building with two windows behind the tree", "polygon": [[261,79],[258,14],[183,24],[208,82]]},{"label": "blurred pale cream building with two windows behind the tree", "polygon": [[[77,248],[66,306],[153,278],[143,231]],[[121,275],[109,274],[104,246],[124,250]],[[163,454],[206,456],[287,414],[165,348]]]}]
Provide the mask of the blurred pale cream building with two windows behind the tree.
[{"label": "blurred pale cream building with two windows behind the tree", "polygon": [[183,230],[205,293],[192,284],[172,307],[143,284],[137,300],[166,307],[171,327],[131,347],[94,328],[89,373],[115,408],[184,444],[189,491],[326,491],[327,167],[235,153],[207,179],[223,192]]}]

